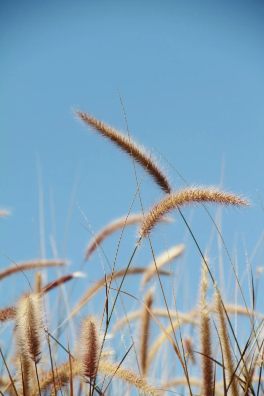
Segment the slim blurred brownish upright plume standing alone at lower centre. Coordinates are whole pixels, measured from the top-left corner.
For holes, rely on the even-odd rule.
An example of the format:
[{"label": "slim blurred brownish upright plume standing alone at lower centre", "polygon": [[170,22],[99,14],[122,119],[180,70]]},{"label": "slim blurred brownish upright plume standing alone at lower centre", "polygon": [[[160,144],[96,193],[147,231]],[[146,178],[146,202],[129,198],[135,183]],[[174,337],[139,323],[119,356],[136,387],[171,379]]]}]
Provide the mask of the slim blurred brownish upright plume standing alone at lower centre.
[{"label": "slim blurred brownish upright plume standing alone at lower centre", "polygon": [[[145,304],[148,309],[151,309],[153,304],[153,289],[150,289],[145,298]],[[140,361],[141,361],[141,372],[143,377],[147,376],[147,355],[148,355],[148,344],[150,338],[150,321],[151,315],[148,310],[143,308],[142,310],[142,321],[141,321],[141,339],[140,339]]]}]

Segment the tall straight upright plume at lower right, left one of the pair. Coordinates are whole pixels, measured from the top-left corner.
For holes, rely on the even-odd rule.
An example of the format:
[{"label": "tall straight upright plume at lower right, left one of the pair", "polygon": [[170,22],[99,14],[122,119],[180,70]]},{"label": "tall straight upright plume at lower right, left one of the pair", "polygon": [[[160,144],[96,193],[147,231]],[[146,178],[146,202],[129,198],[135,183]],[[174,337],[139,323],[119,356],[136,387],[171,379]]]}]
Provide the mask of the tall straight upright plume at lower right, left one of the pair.
[{"label": "tall straight upright plume at lower right, left one of the pair", "polygon": [[[206,259],[207,261],[207,259]],[[200,285],[200,325],[199,335],[201,342],[201,363],[202,363],[202,389],[204,396],[211,396],[213,394],[214,382],[214,364],[209,358],[212,358],[212,335],[210,316],[206,302],[206,292],[208,289],[208,274],[207,267],[202,262],[202,277]]]}]

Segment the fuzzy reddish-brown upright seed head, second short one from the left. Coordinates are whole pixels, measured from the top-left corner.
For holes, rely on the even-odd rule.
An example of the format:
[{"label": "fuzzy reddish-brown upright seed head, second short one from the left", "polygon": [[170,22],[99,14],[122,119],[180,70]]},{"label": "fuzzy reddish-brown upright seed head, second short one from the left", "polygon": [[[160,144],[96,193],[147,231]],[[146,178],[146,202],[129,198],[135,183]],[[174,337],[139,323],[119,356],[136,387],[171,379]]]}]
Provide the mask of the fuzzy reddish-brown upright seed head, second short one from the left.
[{"label": "fuzzy reddish-brown upright seed head, second short one from the left", "polygon": [[90,380],[95,379],[101,350],[100,324],[93,316],[82,321],[80,333],[80,361],[82,372]]}]

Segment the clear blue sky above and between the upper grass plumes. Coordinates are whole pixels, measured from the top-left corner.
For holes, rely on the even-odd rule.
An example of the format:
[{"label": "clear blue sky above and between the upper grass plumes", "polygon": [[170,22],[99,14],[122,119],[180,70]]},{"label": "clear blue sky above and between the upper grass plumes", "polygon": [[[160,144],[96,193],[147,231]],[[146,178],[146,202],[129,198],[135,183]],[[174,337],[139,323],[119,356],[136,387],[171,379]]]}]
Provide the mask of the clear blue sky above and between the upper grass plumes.
[{"label": "clear blue sky above and between the upper grass plumes", "polygon": [[[255,274],[261,260],[264,215],[255,190],[264,201],[263,2],[14,0],[2,1],[0,11],[0,205],[12,212],[1,219],[0,250],[15,261],[36,257],[33,218],[40,255],[53,256],[52,195],[62,256],[75,185],[66,249],[71,271],[79,268],[90,239],[78,223],[85,225],[77,204],[94,231],[126,214],[136,191],[133,164],[85,129],[73,113],[76,108],[85,110],[125,131],[117,87],[131,136],[158,149],[189,183],[219,184],[222,174],[224,188],[250,197],[253,207],[248,210],[223,210],[222,231],[231,254],[237,241],[241,276],[246,268],[243,238],[249,256],[260,241],[252,260]],[[173,186],[183,186],[177,173],[160,161]],[[38,167],[43,181],[45,250],[39,235]],[[144,207],[160,196],[146,177]],[[139,210],[137,200],[134,211]],[[210,210],[214,215],[215,210]],[[185,213],[204,251],[211,221],[203,209]],[[183,304],[191,306],[200,256],[182,219],[175,219],[166,226],[168,244],[187,242],[180,294]],[[111,262],[118,236],[104,245]],[[129,259],[135,240],[134,230],[125,234],[118,268]],[[156,253],[165,249],[162,231],[155,233],[153,241]],[[135,262],[147,263],[149,250],[145,243]],[[211,253],[217,272],[215,236]],[[223,260],[228,278],[230,263],[224,250]],[[8,264],[2,255],[1,268]],[[103,274],[98,255],[84,271],[88,278],[79,281],[79,294]],[[2,282],[2,303],[14,300],[26,286],[21,274]],[[124,287],[128,286],[129,280]],[[231,288],[227,293],[234,294]]]}]

